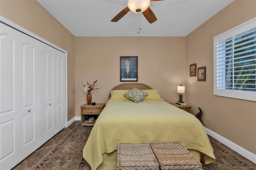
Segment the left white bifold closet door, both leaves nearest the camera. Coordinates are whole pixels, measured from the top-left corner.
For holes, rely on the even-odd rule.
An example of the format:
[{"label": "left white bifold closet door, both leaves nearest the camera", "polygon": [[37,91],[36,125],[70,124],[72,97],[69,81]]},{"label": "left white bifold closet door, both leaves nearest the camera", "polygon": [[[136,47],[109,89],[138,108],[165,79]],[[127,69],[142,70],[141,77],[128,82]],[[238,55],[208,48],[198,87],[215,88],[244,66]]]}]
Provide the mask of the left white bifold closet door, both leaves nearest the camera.
[{"label": "left white bifold closet door, both leaves nearest the camera", "polygon": [[0,24],[0,169],[10,169],[40,146],[41,47]]}]

